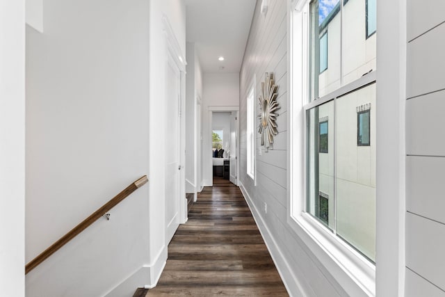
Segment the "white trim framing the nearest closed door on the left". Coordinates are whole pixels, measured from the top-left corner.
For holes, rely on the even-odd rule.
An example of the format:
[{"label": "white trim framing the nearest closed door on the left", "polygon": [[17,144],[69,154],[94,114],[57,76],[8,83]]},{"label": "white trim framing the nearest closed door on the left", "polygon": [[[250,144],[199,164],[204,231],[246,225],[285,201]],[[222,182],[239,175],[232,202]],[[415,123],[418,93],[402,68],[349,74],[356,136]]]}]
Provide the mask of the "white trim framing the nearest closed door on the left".
[{"label": "white trim framing the nearest closed door on the left", "polygon": [[[186,159],[186,57],[181,51],[179,42],[175,36],[175,33],[168,21],[168,18],[164,15],[163,18],[163,33],[165,35],[165,46],[170,52],[170,55],[177,65],[180,73],[179,83],[179,200],[178,200],[178,220],[179,224],[186,223],[187,216],[187,200],[186,200],[186,175],[184,170],[184,162]],[[165,67],[168,67],[168,55],[165,55]],[[167,68],[165,68],[167,69]],[[168,86],[165,86],[168,88]]]}]

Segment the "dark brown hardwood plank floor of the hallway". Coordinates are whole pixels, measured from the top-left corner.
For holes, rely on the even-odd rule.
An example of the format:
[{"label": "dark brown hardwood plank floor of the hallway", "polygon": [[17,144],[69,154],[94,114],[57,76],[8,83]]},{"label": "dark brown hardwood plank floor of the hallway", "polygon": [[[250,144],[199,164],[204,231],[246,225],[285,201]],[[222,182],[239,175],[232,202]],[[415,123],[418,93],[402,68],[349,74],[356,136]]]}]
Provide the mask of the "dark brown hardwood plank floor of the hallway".
[{"label": "dark brown hardwood plank floor of the hallway", "polygon": [[238,187],[213,179],[168,248],[147,296],[289,296]]}]

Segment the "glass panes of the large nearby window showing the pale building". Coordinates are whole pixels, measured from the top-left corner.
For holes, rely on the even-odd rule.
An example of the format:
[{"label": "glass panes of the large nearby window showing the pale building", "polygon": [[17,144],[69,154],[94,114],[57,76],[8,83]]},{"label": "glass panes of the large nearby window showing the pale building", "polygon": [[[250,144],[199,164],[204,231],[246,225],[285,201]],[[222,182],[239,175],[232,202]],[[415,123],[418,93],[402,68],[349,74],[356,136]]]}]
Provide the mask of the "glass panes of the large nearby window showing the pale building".
[{"label": "glass panes of the large nearby window showing the pale building", "polygon": [[365,36],[358,30],[365,18],[366,30],[375,26],[370,21],[375,17],[371,2],[348,0],[346,5],[344,0],[314,0],[309,4],[308,46],[314,58],[309,59],[308,74],[312,93],[304,106],[305,211],[375,261],[375,146],[370,143],[375,121],[370,109],[360,107],[375,102],[375,83],[364,79],[364,74],[375,70],[375,40],[370,40],[370,31]]}]

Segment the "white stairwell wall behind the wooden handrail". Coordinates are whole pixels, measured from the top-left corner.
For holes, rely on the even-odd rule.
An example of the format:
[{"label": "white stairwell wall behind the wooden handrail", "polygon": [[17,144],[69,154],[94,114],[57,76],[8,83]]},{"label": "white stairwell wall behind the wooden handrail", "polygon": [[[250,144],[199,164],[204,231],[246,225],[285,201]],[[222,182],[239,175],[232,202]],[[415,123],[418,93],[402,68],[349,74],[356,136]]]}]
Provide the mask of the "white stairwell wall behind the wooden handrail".
[{"label": "white stairwell wall behind the wooden handrail", "polygon": [[31,271],[27,296],[132,296],[161,273],[163,15],[185,56],[179,0],[48,0],[44,33],[26,32],[26,262],[149,177]]}]

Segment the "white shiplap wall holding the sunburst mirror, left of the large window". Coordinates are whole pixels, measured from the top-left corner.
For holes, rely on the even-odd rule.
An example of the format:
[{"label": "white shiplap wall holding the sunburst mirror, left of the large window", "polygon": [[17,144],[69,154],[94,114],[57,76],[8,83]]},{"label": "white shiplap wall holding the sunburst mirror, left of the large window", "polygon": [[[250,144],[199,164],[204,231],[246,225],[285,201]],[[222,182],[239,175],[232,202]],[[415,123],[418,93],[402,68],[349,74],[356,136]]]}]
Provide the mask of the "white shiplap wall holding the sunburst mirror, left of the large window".
[{"label": "white shiplap wall holding the sunburst mirror, left of the large window", "polygon": [[[286,223],[287,188],[287,20],[286,0],[268,1],[266,15],[260,13],[257,1],[248,44],[240,73],[240,182],[246,200],[268,245],[286,288],[291,296],[347,296],[327,273],[318,259]],[[255,80],[255,109],[265,72],[275,72],[277,102],[281,109],[277,117],[279,134],[273,150],[259,152],[257,135],[257,186],[246,173],[246,98]],[[257,124],[259,121],[257,120]],[[255,128],[256,129],[256,128]],[[267,211],[265,211],[267,204]]]}]

